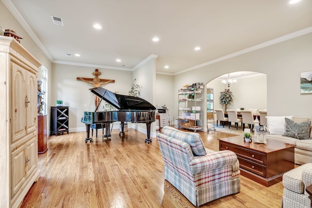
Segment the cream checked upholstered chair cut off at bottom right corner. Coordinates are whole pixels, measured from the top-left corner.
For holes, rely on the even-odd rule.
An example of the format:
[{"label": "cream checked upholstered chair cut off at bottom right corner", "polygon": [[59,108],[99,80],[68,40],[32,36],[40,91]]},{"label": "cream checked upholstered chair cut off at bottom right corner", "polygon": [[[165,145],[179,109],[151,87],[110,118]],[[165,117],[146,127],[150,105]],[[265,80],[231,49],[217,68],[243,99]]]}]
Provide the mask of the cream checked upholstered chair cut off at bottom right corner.
[{"label": "cream checked upholstered chair cut off at bottom right corner", "polygon": [[283,175],[284,195],[281,208],[311,208],[306,188],[312,184],[312,163],[306,163]]}]

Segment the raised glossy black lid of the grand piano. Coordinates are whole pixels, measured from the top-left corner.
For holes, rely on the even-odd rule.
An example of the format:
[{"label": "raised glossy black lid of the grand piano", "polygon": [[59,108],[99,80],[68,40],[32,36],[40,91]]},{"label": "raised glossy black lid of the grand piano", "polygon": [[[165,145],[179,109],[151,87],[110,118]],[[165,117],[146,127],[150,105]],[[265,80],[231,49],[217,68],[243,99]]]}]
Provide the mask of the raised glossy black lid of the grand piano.
[{"label": "raised glossy black lid of the grand piano", "polygon": [[90,89],[90,91],[120,111],[123,111],[123,110],[141,110],[141,111],[156,110],[155,106],[153,106],[151,103],[149,103],[148,101],[140,97],[135,97],[135,96],[130,96],[130,95],[119,95],[109,90],[106,90],[102,87],[92,88]]}]

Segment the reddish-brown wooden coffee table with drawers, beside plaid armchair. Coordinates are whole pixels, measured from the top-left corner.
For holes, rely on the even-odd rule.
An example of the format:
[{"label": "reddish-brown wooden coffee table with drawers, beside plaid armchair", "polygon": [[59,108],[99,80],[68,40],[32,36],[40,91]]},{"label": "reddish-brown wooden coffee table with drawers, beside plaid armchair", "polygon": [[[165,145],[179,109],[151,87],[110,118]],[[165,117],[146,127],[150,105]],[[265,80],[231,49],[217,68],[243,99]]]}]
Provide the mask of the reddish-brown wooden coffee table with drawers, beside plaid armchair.
[{"label": "reddish-brown wooden coffee table with drawers, beside plaid armchair", "polygon": [[267,144],[245,142],[243,136],[219,139],[219,150],[234,151],[241,175],[266,187],[282,181],[294,169],[295,145],[268,140]]}]

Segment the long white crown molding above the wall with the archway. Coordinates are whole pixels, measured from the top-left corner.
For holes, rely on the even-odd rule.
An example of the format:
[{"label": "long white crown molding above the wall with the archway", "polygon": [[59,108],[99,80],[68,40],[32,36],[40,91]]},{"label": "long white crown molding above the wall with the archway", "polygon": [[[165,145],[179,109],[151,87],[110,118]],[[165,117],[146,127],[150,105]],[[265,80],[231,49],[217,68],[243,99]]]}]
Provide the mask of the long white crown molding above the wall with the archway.
[{"label": "long white crown molding above the wall with the archway", "polygon": [[298,36],[302,36],[302,35],[305,35],[305,34],[308,34],[308,33],[311,33],[311,32],[312,32],[312,26],[311,26],[311,27],[307,27],[307,28],[302,29],[302,30],[298,30],[298,31],[296,31],[296,32],[293,32],[293,33],[290,33],[290,34],[287,34],[287,35],[284,35],[284,36],[281,36],[281,37],[279,37],[279,38],[274,38],[274,39],[272,39],[272,40],[269,40],[269,41],[260,43],[260,44],[258,44],[258,45],[254,45],[254,46],[252,46],[252,47],[243,49],[243,50],[241,50],[241,51],[237,51],[237,52],[235,52],[235,53],[226,55],[226,56],[224,56],[224,57],[216,58],[216,59],[214,59],[214,60],[211,60],[211,61],[208,61],[208,62],[199,64],[199,65],[196,65],[196,66],[194,66],[194,67],[191,67],[191,68],[182,70],[182,71],[180,71],[180,72],[176,72],[176,73],[174,73],[174,75],[178,75],[178,74],[182,74],[182,73],[185,73],[185,72],[189,72],[189,71],[192,71],[192,70],[195,70],[195,69],[204,67],[204,66],[211,65],[211,64],[213,64],[213,63],[217,63],[217,62],[220,62],[220,61],[229,59],[229,58],[237,57],[237,56],[239,56],[239,55],[246,54],[246,53],[249,53],[249,52],[252,52],[252,51],[261,49],[261,48],[265,48],[265,47],[267,47],[267,46],[274,45],[274,44],[276,44],[276,43],[283,42],[283,41],[285,41],[285,40],[289,40],[289,39],[292,39],[292,38],[296,38],[296,37],[298,37]]}]

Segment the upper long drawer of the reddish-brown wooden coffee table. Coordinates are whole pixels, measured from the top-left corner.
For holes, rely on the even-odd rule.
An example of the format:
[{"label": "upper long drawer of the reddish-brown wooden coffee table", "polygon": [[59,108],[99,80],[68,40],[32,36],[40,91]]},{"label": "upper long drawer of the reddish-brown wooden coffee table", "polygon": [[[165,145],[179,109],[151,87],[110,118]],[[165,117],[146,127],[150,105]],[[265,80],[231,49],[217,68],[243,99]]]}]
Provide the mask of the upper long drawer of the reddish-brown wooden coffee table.
[{"label": "upper long drawer of the reddish-brown wooden coffee table", "polygon": [[220,141],[220,150],[230,150],[234,151],[237,156],[246,158],[255,163],[259,163],[261,165],[266,165],[266,154],[260,153],[257,151],[248,150],[239,146],[234,146],[225,142]]}]

